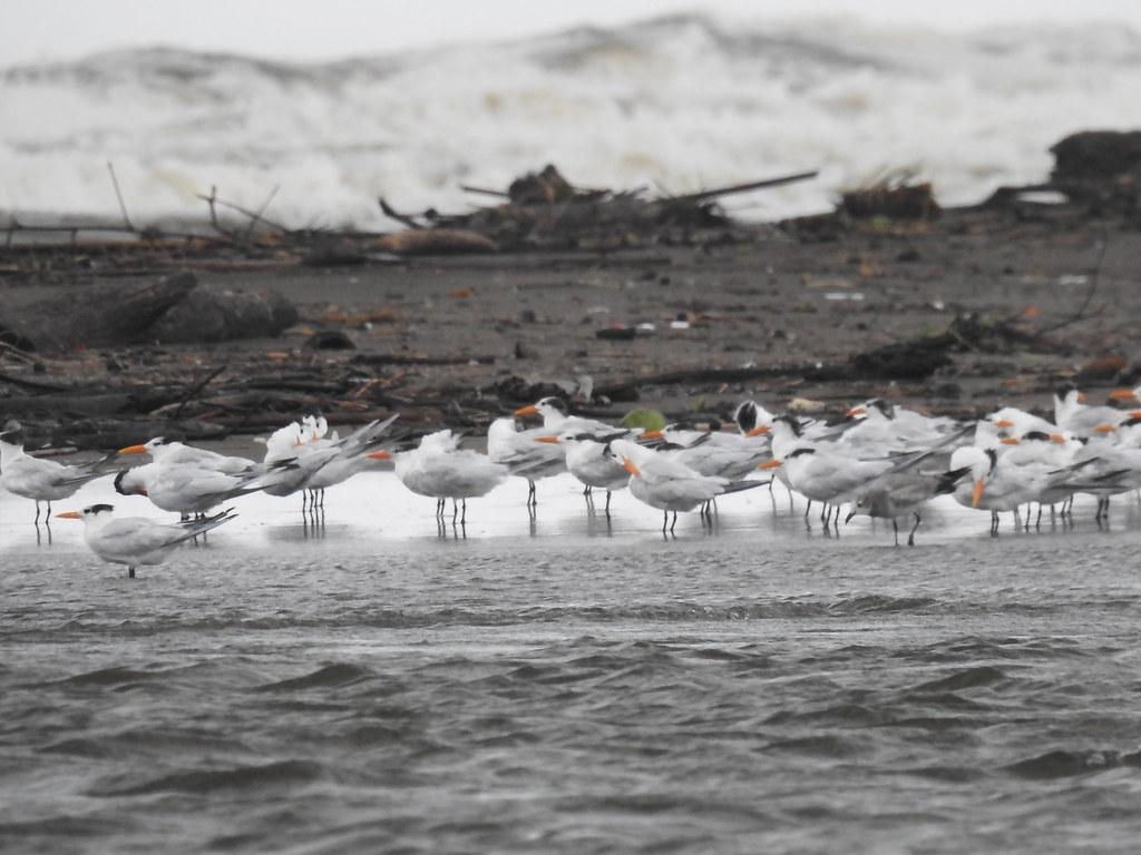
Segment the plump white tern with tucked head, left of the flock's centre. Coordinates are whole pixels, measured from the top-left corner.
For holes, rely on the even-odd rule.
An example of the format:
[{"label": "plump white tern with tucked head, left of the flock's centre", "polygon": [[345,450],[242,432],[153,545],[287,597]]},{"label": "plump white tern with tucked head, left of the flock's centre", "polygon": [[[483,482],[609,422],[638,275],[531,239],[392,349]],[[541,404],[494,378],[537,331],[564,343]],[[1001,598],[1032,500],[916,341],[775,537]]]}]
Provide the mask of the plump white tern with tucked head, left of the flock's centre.
[{"label": "plump white tern with tucked head, left of the flock's centre", "polygon": [[469,498],[486,496],[511,474],[508,466],[487,455],[461,449],[460,437],[446,429],[422,437],[416,448],[394,455],[394,462],[400,483],[436,499],[437,518],[444,515],[444,504],[452,499],[454,521],[455,506],[462,502],[461,523],[467,520]]}]

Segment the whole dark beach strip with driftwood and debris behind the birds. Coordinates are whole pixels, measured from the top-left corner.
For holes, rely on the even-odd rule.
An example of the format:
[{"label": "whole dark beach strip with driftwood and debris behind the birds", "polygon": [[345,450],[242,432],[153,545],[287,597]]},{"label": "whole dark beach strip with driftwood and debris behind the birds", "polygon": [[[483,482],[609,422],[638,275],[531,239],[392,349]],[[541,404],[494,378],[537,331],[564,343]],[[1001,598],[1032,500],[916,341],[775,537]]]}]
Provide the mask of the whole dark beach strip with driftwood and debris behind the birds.
[{"label": "whole dark beach strip with driftwood and debris behind the birds", "polygon": [[119,225],[13,222],[0,418],[106,449],[308,412],[479,429],[551,392],[604,415],[883,396],[971,416],[1041,404],[1059,377],[1133,383],[1141,132],[1051,150],[1046,181],[978,205],[896,176],[762,225],[719,199],[811,173],[654,196],[548,166],[468,188],[493,204],[462,214],[381,201],[405,227],[390,234],[290,230],[215,192],[187,233],[126,207]]}]

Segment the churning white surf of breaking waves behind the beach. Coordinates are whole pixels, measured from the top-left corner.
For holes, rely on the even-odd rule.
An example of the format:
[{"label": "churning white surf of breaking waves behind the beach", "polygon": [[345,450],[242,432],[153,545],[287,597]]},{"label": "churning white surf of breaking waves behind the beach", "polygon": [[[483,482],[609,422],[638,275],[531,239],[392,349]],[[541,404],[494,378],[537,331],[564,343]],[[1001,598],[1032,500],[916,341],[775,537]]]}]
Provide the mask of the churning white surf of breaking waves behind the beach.
[{"label": "churning white surf of breaking waves behind the beach", "polygon": [[686,193],[818,169],[727,206],[825,210],[906,169],[946,204],[1033,182],[1079,129],[1141,127],[1141,36],[1111,25],[942,33],[855,21],[658,18],[323,64],[154,48],[0,72],[0,211],[291,227],[463,211],[556,163],[578,185]]}]

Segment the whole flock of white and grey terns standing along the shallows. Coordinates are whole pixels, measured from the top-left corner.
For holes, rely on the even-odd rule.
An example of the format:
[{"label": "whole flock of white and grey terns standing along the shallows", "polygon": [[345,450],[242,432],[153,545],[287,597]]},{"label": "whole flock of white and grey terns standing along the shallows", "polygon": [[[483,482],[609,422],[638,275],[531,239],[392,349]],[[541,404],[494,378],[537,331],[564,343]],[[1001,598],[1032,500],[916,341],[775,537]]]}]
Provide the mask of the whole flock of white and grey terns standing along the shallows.
[{"label": "whole flock of white and grey terns standing along the shallows", "polygon": [[[466,521],[467,499],[511,477],[528,481],[533,514],[536,482],[569,472],[591,506],[596,490],[606,492],[607,516],[612,494],[629,488],[636,499],[663,512],[665,534],[673,531],[680,512],[698,510],[704,523],[719,497],[776,479],[790,498],[808,499],[806,519],[812,503],[823,506],[826,527],[837,526],[843,507],[847,521],[859,514],[890,519],[896,545],[898,521],[913,521],[907,543],[914,545],[923,505],[940,495],[989,511],[993,534],[1001,512],[1012,512],[1015,526],[1027,528],[1034,506],[1038,521],[1044,507],[1066,520],[1076,494],[1098,497],[1100,522],[1111,496],[1141,489],[1141,386],[1115,390],[1110,399],[1125,406],[1087,406],[1067,386],[1054,393],[1053,422],[1004,407],[970,424],[881,399],[853,407],[836,424],[775,415],[747,400],[734,414],[737,430],[727,432],[678,424],[615,426],[572,415],[561,399],[544,398],[494,421],[486,454],[463,448],[450,430],[394,437],[397,416],[343,438],[330,434],[324,418],[306,416],[265,440],[260,462],[155,438],[68,465],[25,454],[21,427],[9,422],[0,432],[0,487],[35,502],[37,526],[41,502],[50,519],[51,502],[112,474],[116,492],[147,496],[160,510],[179,514],[177,523],[115,518],[110,504],[56,514],[81,519],[91,551],[126,564],[131,578],[136,567],[161,563],[180,543],[234,519],[229,508],[216,512],[234,498],[300,492],[302,510],[307,502],[310,511],[323,508],[326,488],[383,461],[391,461],[411,491],[436,499],[437,518],[444,518],[451,499],[453,522],[458,515]],[[519,420],[527,416],[541,418],[542,426],[523,427]],[[151,462],[120,469],[120,457],[136,454]]]}]

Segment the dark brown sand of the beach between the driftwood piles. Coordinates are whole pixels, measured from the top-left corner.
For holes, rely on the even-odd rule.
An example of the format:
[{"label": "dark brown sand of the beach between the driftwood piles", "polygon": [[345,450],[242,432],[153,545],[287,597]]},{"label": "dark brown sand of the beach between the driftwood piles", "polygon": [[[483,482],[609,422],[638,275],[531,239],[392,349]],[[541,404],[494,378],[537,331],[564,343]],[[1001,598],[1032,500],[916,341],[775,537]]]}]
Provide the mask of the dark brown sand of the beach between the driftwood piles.
[{"label": "dark brown sand of the beach between the driftwood piles", "polygon": [[[672,417],[725,416],[746,397],[839,413],[883,396],[970,416],[1001,401],[1044,409],[1063,378],[1076,378],[1091,399],[1136,380],[1141,230],[1128,219],[1008,206],[919,223],[848,223],[825,239],[769,226],[741,234],[745,239],[718,245],[378,259],[324,269],[289,260],[191,261],[183,267],[210,287],[280,292],[301,321],[278,337],[221,344],[90,348],[37,353],[34,361],[7,352],[0,410],[33,424],[68,410],[80,421],[124,417],[143,432],[176,417],[193,420],[192,434],[209,433],[203,425],[261,430],[310,407],[334,423],[399,409],[408,425],[471,427],[550,384],[589,377],[596,394],[582,406],[615,415],[645,406]],[[0,286],[9,318],[46,296],[82,300],[92,287],[161,272],[132,276],[128,253],[114,264],[38,276],[29,270],[35,252],[6,253]],[[947,363],[926,376],[851,361],[945,333],[965,315],[1002,321],[1004,334],[953,344]],[[598,336],[638,324],[653,329]],[[355,349],[307,347],[322,329],[345,333]],[[66,401],[37,408],[29,400],[50,386],[189,390],[222,365],[207,388],[178,400],[180,409],[84,414]],[[674,372],[682,374],[672,382],[661,377]],[[655,377],[661,382],[630,385]]]}]

